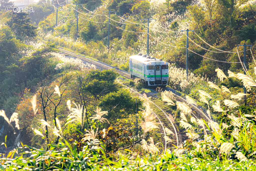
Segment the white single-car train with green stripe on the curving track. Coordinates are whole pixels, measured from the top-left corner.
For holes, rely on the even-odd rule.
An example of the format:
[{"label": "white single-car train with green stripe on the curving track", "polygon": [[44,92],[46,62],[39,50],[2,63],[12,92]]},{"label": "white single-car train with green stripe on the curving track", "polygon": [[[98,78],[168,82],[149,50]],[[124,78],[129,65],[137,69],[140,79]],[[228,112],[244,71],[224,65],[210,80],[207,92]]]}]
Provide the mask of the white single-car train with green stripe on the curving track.
[{"label": "white single-car train with green stripe on the curving track", "polygon": [[131,78],[140,78],[148,86],[168,85],[168,63],[162,59],[138,54],[129,57]]}]

